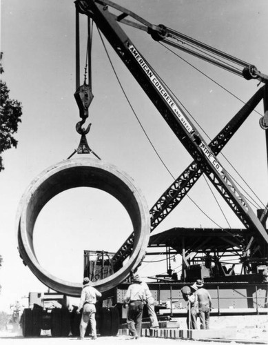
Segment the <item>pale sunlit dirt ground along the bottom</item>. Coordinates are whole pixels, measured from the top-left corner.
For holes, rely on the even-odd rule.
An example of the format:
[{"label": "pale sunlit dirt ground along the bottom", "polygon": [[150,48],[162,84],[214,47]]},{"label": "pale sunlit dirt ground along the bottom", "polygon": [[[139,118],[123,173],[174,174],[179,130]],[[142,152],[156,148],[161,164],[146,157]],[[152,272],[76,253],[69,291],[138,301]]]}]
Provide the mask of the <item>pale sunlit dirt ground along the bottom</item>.
[{"label": "pale sunlit dirt ground along the bottom", "polygon": [[[145,345],[172,345],[178,342],[183,342],[185,345],[196,345],[198,342],[202,345],[217,345],[217,344],[268,344],[268,315],[247,315],[247,316],[231,316],[231,317],[211,317],[211,329],[218,329],[219,333],[223,329],[235,328],[235,337],[233,339],[203,339],[203,340],[188,340],[188,339],[164,339],[156,337],[141,337],[137,340],[130,340],[127,335],[117,335],[116,337],[98,337],[94,344],[109,344],[118,345],[129,342],[132,344],[145,344]],[[184,327],[184,319],[180,320],[180,328]],[[21,331],[14,333],[0,332],[0,344],[1,345],[74,345],[83,344],[84,342],[92,342],[90,338],[85,340],[76,339],[76,337],[65,338],[52,338],[49,335],[49,331],[42,331],[43,335],[38,338],[23,338]]]}]

